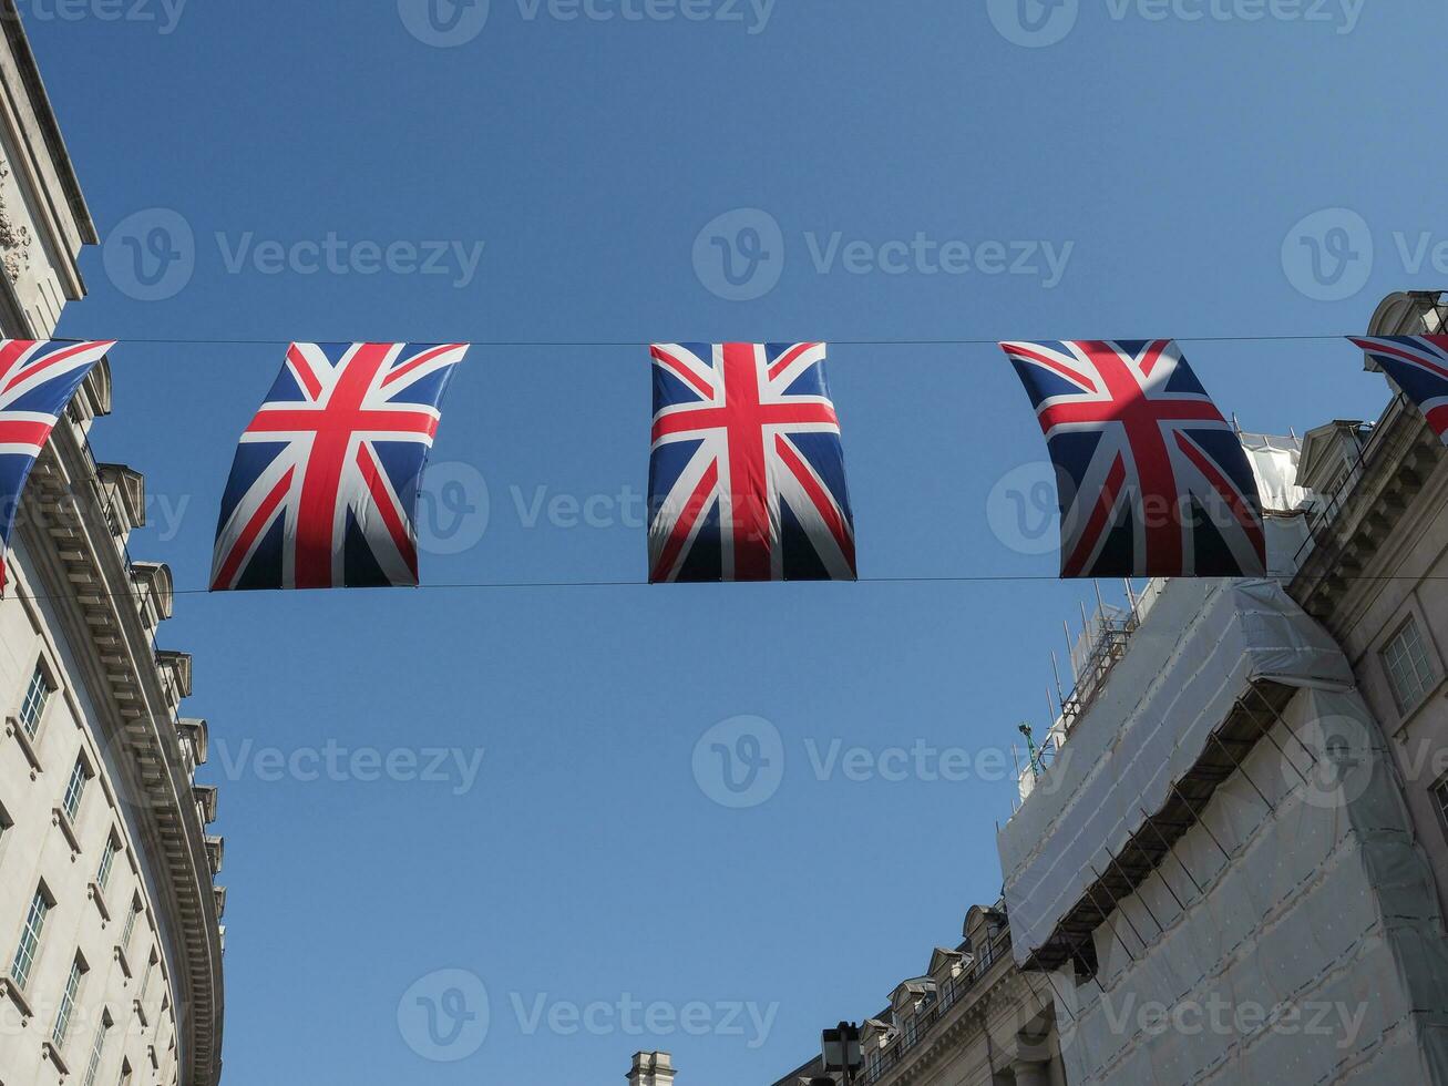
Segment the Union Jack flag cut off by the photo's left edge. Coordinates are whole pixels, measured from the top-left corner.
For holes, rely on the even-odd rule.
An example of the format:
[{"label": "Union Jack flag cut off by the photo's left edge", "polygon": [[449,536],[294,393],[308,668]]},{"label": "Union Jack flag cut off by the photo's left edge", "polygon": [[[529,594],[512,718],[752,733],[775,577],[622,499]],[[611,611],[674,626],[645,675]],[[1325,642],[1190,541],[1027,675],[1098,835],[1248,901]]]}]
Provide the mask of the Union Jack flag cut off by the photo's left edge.
[{"label": "Union Jack flag cut off by the photo's left edge", "polygon": [[75,390],[116,346],[110,342],[0,340],[0,589],[20,494],[41,449]]}]

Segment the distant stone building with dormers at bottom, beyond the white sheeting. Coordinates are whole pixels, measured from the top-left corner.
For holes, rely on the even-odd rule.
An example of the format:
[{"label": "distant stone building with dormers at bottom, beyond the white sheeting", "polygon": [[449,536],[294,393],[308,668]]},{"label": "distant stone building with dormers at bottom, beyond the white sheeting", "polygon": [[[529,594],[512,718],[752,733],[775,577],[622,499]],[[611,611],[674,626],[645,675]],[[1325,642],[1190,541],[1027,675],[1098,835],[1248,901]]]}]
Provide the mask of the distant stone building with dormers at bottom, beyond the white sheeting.
[{"label": "distant stone building with dormers at bottom, beyond the white sheeting", "polygon": [[[856,1086],[1066,1086],[1048,982],[1016,967],[1001,904],[966,914],[961,941],[896,985],[860,1027]],[[775,1086],[825,1076],[818,1058]]]}]

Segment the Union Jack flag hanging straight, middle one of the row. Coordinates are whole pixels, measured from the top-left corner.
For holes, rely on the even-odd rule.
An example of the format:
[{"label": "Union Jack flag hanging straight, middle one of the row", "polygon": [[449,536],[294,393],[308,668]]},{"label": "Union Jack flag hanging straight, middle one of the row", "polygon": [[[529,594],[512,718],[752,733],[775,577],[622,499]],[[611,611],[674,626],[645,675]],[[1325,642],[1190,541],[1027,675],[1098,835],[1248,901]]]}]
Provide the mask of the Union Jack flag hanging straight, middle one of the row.
[{"label": "Union Jack flag hanging straight, middle one of the row", "polygon": [[649,579],[854,581],[824,343],[656,343]]}]

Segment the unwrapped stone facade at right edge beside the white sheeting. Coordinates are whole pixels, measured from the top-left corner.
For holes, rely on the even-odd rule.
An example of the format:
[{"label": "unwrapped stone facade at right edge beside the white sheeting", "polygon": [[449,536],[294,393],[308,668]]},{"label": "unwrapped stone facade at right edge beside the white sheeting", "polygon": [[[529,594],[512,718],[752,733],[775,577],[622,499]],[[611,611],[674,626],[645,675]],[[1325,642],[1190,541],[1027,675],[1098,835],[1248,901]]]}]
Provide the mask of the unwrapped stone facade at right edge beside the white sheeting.
[{"label": "unwrapped stone facade at right edge beside the white sheeting", "polygon": [[[1445,297],[1394,294],[1370,334],[1442,334]],[[1318,497],[1290,591],[1342,646],[1383,723],[1448,911],[1448,447],[1396,395],[1373,424],[1312,430],[1302,481]]]}]

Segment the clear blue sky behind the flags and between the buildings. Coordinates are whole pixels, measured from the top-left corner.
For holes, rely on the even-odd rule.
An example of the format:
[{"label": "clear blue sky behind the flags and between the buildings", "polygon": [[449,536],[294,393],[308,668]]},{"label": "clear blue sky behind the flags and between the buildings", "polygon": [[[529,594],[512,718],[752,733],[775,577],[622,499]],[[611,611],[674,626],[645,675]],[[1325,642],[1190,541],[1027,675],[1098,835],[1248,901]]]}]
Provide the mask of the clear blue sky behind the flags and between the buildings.
[{"label": "clear blue sky behind the flags and between the buildings", "polygon": [[[1345,345],[1192,337],[1444,285],[1436,6],[1025,4],[22,3],[111,239],[61,334],[825,339],[862,573],[1034,578],[180,597],[227,1082],[615,1082],[639,1048],[772,1082],[995,899],[999,763],[1090,588],[1022,553],[1030,505],[1011,529],[1043,447],[999,352],[850,342],[1177,336],[1247,429],[1376,417]],[[146,472],[132,550],[180,588],[279,362],[113,353],[93,440]],[[641,578],[647,421],[639,348],[476,348],[424,579]],[[744,733],[780,773],[727,807]]]}]

